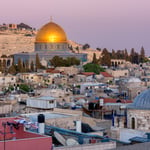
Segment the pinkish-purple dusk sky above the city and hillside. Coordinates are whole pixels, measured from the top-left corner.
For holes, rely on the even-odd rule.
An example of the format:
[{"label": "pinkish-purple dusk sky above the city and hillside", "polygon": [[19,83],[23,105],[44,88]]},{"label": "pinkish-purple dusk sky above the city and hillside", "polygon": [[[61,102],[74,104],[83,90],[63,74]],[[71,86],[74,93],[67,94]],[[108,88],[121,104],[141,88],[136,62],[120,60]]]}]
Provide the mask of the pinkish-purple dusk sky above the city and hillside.
[{"label": "pinkish-purple dusk sky above the city and hillside", "polygon": [[24,22],[40,28],[53,21],[70,40],[93,48],[140,51],[150,55],[150,0],[4,0],[0,24]]}]

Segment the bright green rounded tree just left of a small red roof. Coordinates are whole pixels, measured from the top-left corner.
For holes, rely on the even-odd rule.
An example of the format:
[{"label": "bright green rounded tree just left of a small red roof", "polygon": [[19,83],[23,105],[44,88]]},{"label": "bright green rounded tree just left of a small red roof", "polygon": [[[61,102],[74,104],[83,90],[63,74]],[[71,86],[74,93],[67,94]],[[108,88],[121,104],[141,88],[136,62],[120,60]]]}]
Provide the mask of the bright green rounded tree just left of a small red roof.
[{"label": "bright green rounded tree just left of a small red roof", "polygon": [[105,71],[104,68],[100,67],[98,64],[87,63],[83,66],[85,72],[94,72],[99,74],[100,72]]}]

